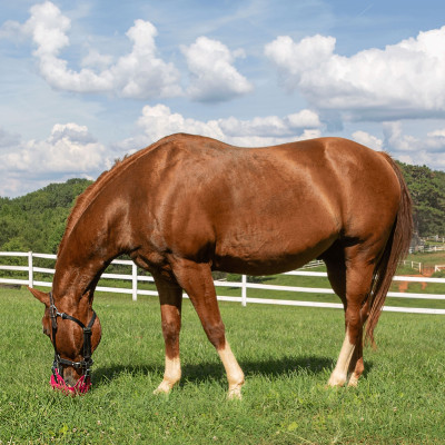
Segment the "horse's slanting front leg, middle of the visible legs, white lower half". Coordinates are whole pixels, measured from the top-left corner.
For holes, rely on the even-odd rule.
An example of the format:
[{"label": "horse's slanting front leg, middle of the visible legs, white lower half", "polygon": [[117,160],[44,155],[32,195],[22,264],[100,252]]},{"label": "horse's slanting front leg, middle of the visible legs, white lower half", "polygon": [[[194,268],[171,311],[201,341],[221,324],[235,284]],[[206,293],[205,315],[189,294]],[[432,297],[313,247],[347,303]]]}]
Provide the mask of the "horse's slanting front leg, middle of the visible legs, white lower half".
[{"label": "horse's slanting front leg, middle of the visible legs, white lower half", "polygon": [[190,297],[208,339],[221,358],[229,384],[228,397],[240,398],[244,373],[226,340],[210,266],[179,259],[174,264],[174,274]]}]

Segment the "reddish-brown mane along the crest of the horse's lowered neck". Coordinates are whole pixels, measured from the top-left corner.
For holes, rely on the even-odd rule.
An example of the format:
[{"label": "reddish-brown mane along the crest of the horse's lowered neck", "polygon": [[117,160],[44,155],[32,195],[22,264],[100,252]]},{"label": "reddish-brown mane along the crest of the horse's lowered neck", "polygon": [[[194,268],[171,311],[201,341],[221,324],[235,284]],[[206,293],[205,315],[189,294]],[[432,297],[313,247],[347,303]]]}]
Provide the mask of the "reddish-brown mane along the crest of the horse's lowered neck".
[{"label": "reddish-brown mane along the crest of the horse's lowered neck", "polygon": [[122,170],[126,170],[130,165],[132,165],[136,160],[146,155],[148,151],[151,151],[154,148],[171,139],[172,137],[164,138],[158,142],[137,151],[134,155],[126,155],[122,159],[116,159],[115,165],[109,170],[103,171],[93,184],[87,187],[86,190],[78,196],[78,198],[76,199],[76,204],[67,219],[67,227],[59,245],[58,256],[62,251],[69,236],[71,235],[72,229],[76,227],[80,217],[87,210],[89,205],[95,200],[95,198],[100,194],[103,187],[112,179],[115,179]]}]

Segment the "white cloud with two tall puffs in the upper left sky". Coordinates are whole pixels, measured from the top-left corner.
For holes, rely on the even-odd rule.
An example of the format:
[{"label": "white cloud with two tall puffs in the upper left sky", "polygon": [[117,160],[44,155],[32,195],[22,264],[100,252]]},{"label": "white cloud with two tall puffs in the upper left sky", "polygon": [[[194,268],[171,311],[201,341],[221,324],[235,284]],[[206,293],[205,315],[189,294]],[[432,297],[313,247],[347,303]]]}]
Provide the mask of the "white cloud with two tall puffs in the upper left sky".
[{"label": "white cloud with two tall puffs in the upper left sky", "polygon": [[108,91],[140,99],[181,95],[179,71],[157,56],[157,30],[149,21],[135,21],[126,34],[132,43],[131,52],[115,65],[110,56],[90,50],[81,63],[86,68],[75,71],[60,58],[60,52],[69,46],[70,19],[50,1],[33,6],[30,16],[24,24],[7,22],[2,34],[12,36],[19,30],[31,37],[40,73],[51,87],[76,92]]}]

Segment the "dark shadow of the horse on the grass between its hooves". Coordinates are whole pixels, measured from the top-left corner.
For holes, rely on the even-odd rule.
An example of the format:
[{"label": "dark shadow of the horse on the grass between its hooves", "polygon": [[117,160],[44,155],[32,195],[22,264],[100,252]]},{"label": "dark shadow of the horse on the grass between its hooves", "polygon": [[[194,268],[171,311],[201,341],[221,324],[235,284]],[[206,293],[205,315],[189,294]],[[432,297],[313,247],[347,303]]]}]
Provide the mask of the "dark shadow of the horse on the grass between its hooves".
[{"label": "dark shadow of the horse on the grass between its hooves", "polygon": [[[260,375],[264,377],[280,377],[289,375],[317,375],[320,373],[329,374],[335,366],[335,360],[328,357],[317,356],[300,356],[300,357],[283,357],[278,359],[266,358],[261,360],[239,362],[243,370],[245,372],[246,378],[249,376]],[[367,362],[364,377],[370,370],[373,364]],[[135,374],[135,375],[150,375],[161,374],[164,368],[161,364],[152,365],[116,365],[110,367],[98,368],[93,373],[95,386],[107,385],[115,378],[118,378],[121,374]],[[197,363],[197,364],[185,364],[182,365],[182,380],[180,386],[187,382],[202,383],[211,378],[212,380],[221,382],[226,384],[226,373],[220,363]]]}]

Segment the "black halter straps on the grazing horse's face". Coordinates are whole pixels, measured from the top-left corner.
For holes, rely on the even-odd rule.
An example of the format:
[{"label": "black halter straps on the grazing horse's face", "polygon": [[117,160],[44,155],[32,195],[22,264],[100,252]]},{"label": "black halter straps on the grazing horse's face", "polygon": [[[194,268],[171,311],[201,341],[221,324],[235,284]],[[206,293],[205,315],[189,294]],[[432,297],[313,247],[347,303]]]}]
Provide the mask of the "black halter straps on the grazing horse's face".
[{"label": "black halter straps on the grazing horse's face", "polygon": [[[65,313],[59,313],[57,310],[57,307],[55,305],[55,300],[52,297],[52,293],[49,293],[49,316],[51,317],[51,325],[52,325],[52,346],[55,347],[55,362],[52,364],[52,374],[56,377],[56,369],[59,373],[59,375],[63,378],[63,367],[65,366],[72,366],[76,369],[82,369],[82,374],[85,378],[89,378],[91,375],[91,366],[93,364],[92,358],[91,358],[91,328],[92,325],[95,324],[96,320],[96,313],[95,310],[92,312],[92,317],[90,319],[90,323],[88,326],[85,326],[82,322],[77,319],[76,317],[72,317],[71,315],[65,314]],[[83,359],[80,362],[71,362],[66,358],[61,358],[60,354],[57,350],[56,346],[56,333],[57,333],[57,317],[60,317],[61,319],[69,319],[71,322],[77,323],[82,329],[83,329]]]}]

